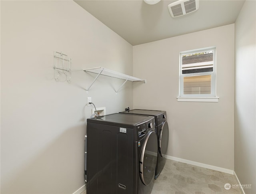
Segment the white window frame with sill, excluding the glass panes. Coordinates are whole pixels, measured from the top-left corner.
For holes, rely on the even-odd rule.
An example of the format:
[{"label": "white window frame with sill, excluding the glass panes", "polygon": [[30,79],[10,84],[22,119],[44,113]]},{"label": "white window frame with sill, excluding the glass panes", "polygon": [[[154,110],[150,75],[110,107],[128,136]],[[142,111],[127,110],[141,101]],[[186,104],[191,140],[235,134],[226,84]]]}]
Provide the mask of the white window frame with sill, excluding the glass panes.
[{"label": "white window frame with sill, excluding the glass panes", "polygon": [[[187,73],[182,74],[182,55],[194,54],[206,51],[213,51],[213,71],[204,73]],[[206,62],[207,63],[207,62]],[[184,77],[211,75],[211,94],[184,94]],[[179,81],[179,97],[178,101],[196,101],[196,102],[218,102],[219,97],[216,96],[216,47],[201,48],[190,51],[180,52],[180,81]]]}]

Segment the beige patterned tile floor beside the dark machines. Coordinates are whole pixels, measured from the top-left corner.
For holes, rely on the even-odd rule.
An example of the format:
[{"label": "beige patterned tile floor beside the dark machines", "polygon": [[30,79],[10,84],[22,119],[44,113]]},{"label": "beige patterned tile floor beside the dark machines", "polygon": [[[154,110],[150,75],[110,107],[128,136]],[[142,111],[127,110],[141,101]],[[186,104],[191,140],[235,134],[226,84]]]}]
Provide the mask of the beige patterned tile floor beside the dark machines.
[{"label": "beige patterned tile floor beside the dark machines", "polygon": [[232,184],[238,184],[234,175],[167,159],[151,194],[242,194]]}]

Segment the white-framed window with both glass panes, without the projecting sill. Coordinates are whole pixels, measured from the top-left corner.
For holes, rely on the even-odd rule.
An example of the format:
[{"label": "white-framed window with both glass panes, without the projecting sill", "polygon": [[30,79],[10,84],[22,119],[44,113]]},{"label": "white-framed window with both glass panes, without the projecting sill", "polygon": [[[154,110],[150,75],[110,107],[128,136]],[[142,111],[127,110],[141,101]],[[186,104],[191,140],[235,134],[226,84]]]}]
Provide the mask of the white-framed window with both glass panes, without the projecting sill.
[{"label": "white-framed window with both glass panes, without the projecting sill", "polygon": [[215,48],[180,52],[179,98],[216,98],[215,56]]}]

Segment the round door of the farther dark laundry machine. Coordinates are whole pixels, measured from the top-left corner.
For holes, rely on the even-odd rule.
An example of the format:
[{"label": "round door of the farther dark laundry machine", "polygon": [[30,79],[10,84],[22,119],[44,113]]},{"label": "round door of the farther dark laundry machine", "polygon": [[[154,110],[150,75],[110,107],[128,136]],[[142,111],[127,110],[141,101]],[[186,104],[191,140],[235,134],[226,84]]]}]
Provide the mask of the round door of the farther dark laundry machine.
[{"label": "round door of the farther dark laundry machine", "polygon": [[166,155],[169,141],[169,127],[167,121],[164,121],[159,133],[159,153],[160,156]]}]

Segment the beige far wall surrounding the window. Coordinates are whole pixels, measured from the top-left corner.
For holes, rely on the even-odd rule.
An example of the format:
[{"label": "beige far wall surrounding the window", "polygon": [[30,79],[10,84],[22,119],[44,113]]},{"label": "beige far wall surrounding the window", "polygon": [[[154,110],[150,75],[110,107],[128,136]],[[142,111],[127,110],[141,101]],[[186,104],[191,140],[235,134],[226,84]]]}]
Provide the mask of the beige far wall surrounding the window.
[{"label": "beige far wall surrounding the window", "polygon": [[[178,102],[179,52],[216,46],[218,103]],[[234,170],[234,24],[134,46],[133,107],[166,110],[169,156]]]}]

